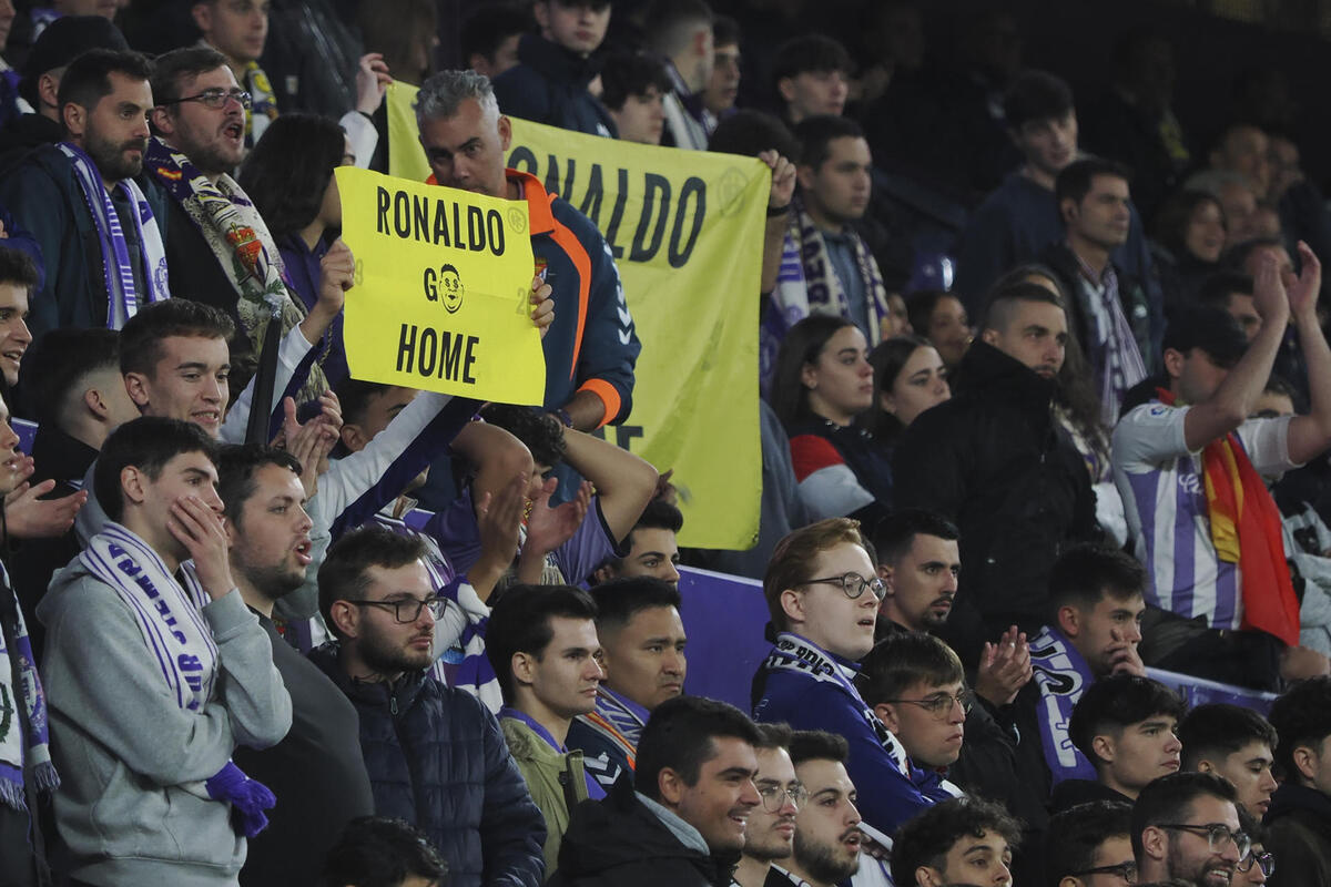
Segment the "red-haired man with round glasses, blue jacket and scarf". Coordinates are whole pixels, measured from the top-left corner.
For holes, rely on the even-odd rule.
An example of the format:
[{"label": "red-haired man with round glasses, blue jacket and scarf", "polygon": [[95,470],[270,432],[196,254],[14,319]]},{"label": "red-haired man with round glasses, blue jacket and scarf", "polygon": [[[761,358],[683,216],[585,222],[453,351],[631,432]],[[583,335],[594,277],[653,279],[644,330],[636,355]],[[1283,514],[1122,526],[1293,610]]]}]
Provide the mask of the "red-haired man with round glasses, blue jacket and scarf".
[{"label": "red-haired man with round glasses, blue jacket and scarf", "polygon": [[768,565],[763,593],[776,637],[753,678],[755,717],[844,735],[864,818],[882,832],[952,797],[949,786],[910,765],[855,688],[882,600],[858,524],[835,517],[787,536]]}]

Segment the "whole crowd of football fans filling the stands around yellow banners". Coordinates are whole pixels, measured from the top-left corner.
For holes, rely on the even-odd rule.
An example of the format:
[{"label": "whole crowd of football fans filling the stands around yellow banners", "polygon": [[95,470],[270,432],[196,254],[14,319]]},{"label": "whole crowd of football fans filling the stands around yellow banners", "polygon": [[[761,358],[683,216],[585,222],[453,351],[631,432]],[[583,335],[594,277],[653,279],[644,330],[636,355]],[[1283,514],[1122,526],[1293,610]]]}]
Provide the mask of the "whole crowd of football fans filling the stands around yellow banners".
[{"label": "whole crowd of football fans filling the stands around yellow banners", "polygon": [[[482,3],[442,70],[433,0],[149,5],[0,0],[0,887],[1331,886],[1279,120],[1203,149],[1149,28],[1078,102],[1001,7],[941,76],[900,0]],[[431,184],[527,205],[540,408],[350,375],[394,80]],[[753,548],[596,434],[631,294],[510,118],[771,169]],[[761,581],[747,711],[681,561]]]}]

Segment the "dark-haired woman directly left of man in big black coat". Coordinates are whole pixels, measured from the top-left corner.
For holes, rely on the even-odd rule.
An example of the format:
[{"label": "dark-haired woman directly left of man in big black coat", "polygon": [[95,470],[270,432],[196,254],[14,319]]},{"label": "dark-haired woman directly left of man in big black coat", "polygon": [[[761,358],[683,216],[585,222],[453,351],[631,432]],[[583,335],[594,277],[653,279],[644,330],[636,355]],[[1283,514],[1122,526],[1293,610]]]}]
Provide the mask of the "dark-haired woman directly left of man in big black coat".
[{"label": "dark-haired woman directly left of man in big black coat", "polygon": [[938,350],[917,335],[880,342],[869,364],[874,403],[861,422],[890,461],[897,439],[916,416],[952,398],[948,367]]}]

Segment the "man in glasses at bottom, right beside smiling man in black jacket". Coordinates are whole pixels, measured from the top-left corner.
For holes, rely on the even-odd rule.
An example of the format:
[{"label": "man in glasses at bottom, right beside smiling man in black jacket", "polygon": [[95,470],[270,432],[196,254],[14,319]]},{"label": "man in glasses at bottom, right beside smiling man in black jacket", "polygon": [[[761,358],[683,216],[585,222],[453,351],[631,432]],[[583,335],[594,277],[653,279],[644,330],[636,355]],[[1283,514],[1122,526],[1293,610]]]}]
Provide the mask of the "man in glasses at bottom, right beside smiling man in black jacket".
[{"label": "man in glasses at bottom, right beside smiling man in black jacket", "polygon": [[763,745],[757,746],[757,774],[753,785],[763,803],[749,814],[744,832],[744,855],[735,868],[737,887],[788,887],[784,871],[773,863],[795,852],[795,817],[809,799],[791,762],[793,731],[784,723],[760,723]]}]

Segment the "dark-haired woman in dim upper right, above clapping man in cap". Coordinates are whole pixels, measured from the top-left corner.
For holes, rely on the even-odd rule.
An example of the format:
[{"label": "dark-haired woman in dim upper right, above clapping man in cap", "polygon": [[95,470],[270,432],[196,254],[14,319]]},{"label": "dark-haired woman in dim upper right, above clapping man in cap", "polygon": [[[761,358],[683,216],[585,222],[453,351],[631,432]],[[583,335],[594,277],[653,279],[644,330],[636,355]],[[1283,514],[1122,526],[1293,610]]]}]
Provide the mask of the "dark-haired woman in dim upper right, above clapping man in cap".
[{"label": "dark-haired woman in dim upper right, above clapping man in cap", "polygon": [[1175,191],[1161,206],[1153,231],[1153,257],[1173,314],[1197,295],[1225,249],[1225,210],[1206,191]]}]

